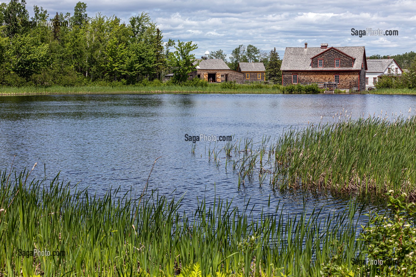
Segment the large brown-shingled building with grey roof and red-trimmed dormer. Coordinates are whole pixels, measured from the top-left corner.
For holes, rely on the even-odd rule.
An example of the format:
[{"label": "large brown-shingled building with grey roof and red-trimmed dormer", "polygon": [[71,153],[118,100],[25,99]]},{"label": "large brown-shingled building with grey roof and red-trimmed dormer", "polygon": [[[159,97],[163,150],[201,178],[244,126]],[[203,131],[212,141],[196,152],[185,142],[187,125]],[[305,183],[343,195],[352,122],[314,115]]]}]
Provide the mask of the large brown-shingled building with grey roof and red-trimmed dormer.
[{"label": "large brown-shingled building with grey roof and red-trimmed dormer", "polygon": [[365,89],[365,47],[286,47],[282,84],[337,84],[338,89]]}]

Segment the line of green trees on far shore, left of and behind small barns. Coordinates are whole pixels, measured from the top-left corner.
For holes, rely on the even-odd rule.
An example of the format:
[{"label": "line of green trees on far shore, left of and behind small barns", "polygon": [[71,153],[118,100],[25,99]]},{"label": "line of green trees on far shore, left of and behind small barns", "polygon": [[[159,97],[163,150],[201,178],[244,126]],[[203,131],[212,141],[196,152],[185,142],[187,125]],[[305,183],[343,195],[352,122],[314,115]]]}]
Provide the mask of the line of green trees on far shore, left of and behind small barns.
[{"label": "line of green trees on far shore, left of and behind small barns", "polygon": [[[142,12],[121,22],[117,16],[87,14],[87,4],[78,2],[73,14],[56,13],[33,6],[29,18],[25,0],[0,5],[0,85],[136,84],[163,79],[175,73],[186,81],[194,69],[192,42],[163,41],[162,31]],[[222,50],[211,57],[225,59]],[[230,56],[230,68],[238,62],[265,62],[270,79],[281,79],[280,57],[272,50],[240,45]],[[280,61],[280,64],[279,64]]]}]

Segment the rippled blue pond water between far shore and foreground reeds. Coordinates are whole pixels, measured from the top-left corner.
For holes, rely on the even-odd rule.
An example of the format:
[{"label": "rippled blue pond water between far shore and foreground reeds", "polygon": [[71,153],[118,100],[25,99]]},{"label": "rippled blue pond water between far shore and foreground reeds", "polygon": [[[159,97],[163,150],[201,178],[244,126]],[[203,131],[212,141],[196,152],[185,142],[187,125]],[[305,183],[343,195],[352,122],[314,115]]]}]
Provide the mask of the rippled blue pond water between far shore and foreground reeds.
[{"label": "rippled blue pond water between far shore and foreground reeds", "polygon": [[271,190],[238,178],[209,162],[212,147],[199,142],[191,154],[184,135],[280,136],[287,126],[332,122],[343,109],[359,116],[416,110],[415,96],[284,95],[284,94],[151,94],[58,95],[0,97],[0,168],[32,167],[33,176],[46,173],[89,186],[98,195],[110,186],[130,188],[140,195],[153,161],[149,189],[183,196],[183,208],[193,210],[197,198],[233,199],[234,205],[261,210],[269,203],[285,205],[288,214],[307,208],[342,210],[348,196]]}]

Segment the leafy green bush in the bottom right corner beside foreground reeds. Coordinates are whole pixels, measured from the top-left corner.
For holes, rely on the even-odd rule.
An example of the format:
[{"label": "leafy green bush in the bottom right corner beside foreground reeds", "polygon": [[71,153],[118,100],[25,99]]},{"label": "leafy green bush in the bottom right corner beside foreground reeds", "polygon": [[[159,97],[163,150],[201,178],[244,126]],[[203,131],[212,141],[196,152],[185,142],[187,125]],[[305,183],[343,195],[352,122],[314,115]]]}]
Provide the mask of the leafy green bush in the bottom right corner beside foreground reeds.
[{"label": "leafy green bush in the bottom right corner beside foreground reeds", "polygon": [[366,245],[367,259],[382,261],[368,270],[383,276],[411,275],[416,272],[415,204],[406,202],[405,193],[395,197],[394,190],[389,190],[386,195],[393,217],[369,215],[360,238]]}]

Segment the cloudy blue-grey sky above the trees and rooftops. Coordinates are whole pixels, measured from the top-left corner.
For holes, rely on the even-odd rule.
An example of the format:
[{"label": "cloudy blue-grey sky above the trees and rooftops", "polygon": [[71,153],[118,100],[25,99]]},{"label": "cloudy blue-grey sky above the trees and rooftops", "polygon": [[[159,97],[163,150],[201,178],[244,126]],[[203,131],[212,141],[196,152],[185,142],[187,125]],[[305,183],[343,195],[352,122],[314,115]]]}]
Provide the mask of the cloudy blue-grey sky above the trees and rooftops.
[{"label": "cloudy blue-grey sky above the trees and rooftops", "polygon": [[[27,0],[42,6],[50,17],[74,12],[77,0]],[[230,56],[238,45],[255,45],[269,52],[276,47],[365,46],[366,55],[416,51],[416,0],[240,1],[240,0],[84,0],[90,17],[97,12],[129,17],[149,13],[163,31],[163,40],[193,41],[200,57],[208,49]],[[398,36],[355,36],[351,29],[398,30]]]}]

